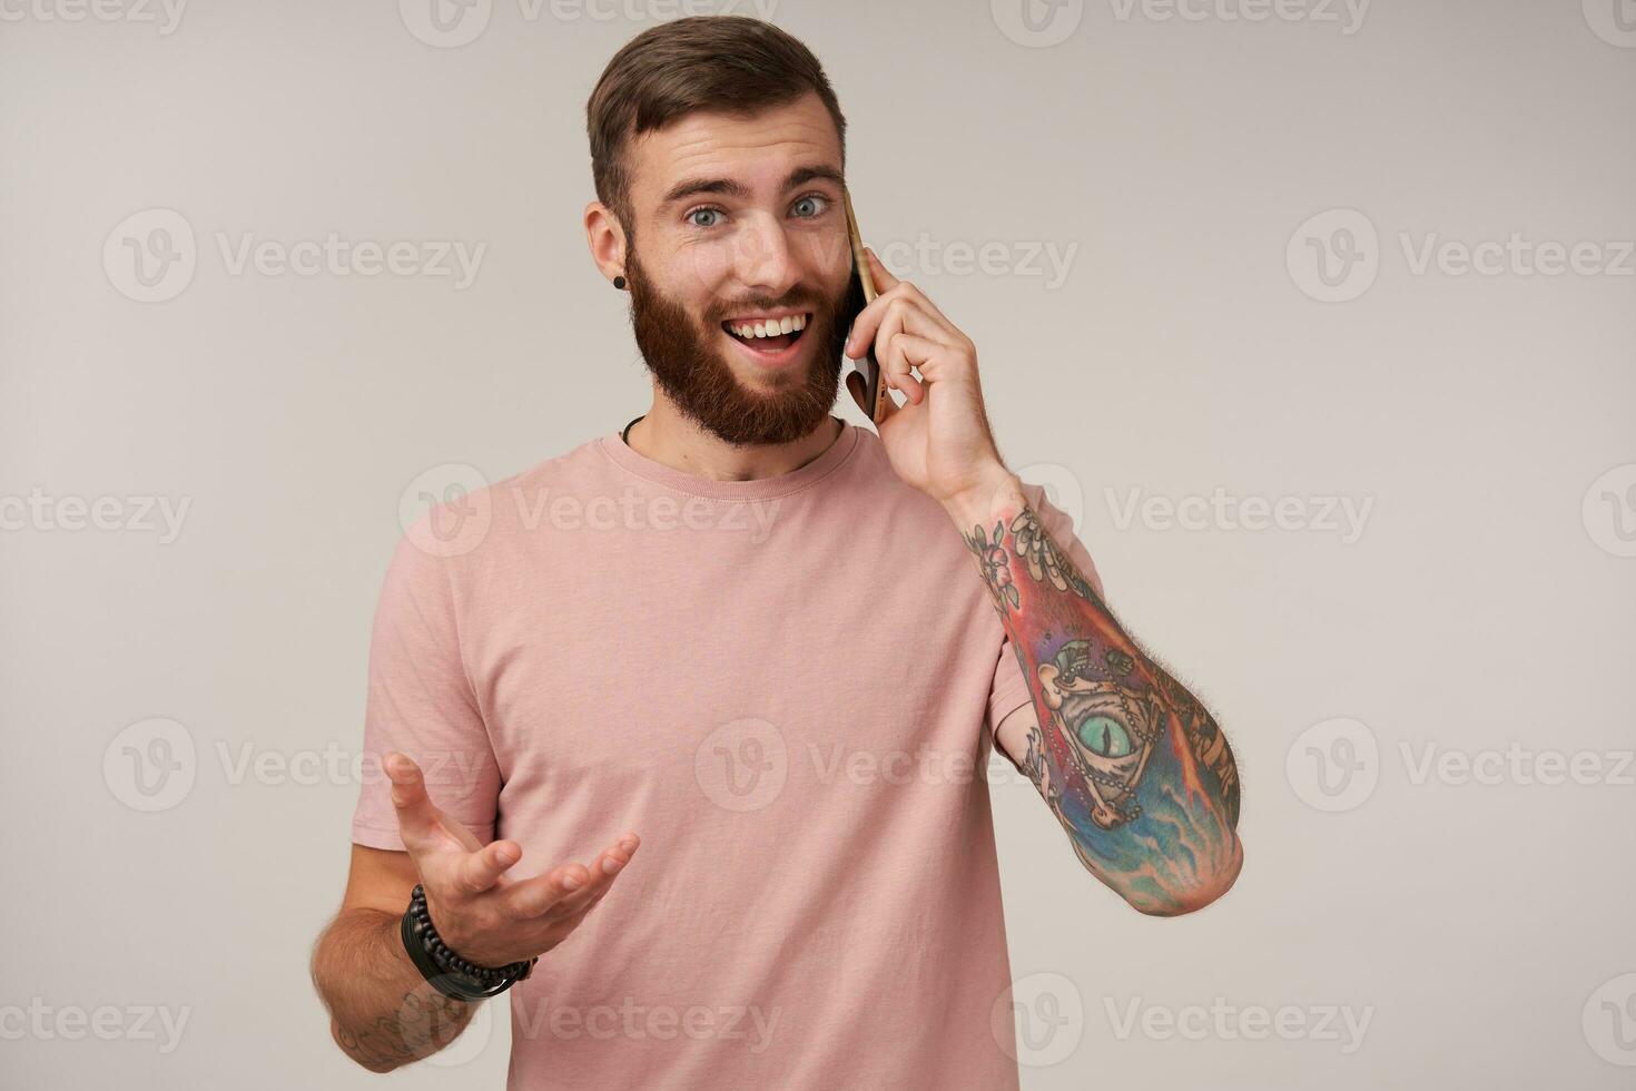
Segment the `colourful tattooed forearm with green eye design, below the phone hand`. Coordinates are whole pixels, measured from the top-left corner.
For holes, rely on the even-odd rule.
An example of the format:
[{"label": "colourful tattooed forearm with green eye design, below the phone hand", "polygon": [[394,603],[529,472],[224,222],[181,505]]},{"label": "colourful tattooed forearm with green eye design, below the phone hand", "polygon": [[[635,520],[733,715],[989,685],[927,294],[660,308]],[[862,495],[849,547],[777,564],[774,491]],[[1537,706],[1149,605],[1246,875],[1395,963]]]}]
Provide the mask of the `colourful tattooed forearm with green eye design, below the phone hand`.
[{"label": "colourful tattooed forearm with green eye design, below the phone hand", "polygon": [[1031,705],[996,738],[1080,860],[1135,909],[1175,916],[1232,887],[1238,769],[1209,710],[1145,654],[1054,541],[1021,481],[946,504],[988,586]]}]

